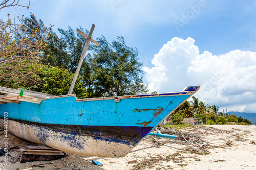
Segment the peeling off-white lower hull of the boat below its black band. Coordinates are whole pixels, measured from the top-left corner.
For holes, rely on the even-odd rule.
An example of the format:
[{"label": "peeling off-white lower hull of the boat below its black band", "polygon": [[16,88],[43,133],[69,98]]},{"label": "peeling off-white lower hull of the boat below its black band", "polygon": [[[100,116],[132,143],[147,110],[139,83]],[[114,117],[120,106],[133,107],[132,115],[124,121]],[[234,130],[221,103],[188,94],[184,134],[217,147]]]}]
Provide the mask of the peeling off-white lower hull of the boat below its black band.
[{"label": "peeling off-white lower hull of the boat below its black band", "polygon": [[[3,119],[0,119],[0,127],[3,123]],[[106,138],[104,135],[61,132],[47,126],[30,125],[15,120],[9,120],[8,127],[9,132],[17,137],[79,155],[123,157],[134,148],[135,144],[132,140],[115,139],[118,138],[117,136]],[[147,128],[146,132],[152,128]],[[124,136],[124,138],[129,137]]]}]

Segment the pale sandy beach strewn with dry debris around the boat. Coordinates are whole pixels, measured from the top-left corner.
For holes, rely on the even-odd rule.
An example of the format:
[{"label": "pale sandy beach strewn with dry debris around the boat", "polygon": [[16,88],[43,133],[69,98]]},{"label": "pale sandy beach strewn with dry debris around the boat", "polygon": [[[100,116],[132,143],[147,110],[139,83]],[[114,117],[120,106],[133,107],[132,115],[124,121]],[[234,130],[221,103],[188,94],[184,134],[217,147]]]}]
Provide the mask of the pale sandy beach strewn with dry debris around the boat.
[{"label": "pale sandy beach strewn with dry debris around the boat", "polygon": [[[54,161],[20,163],[24,145],[38,145],[8,133],[8,166],[0,169],[256,169],[256,126],[212,125],[158,127],[178,139],[147,136],[122,158],[88,157],[72,153]],[[4,131],[0,131],[4,148]],[[97,160],[103,166],[92,163]],[[4,157],[0,157],[4,164]],[[38,166],[39,165],[39,166]],[[41,167],[40,167],[41,166]],[[44,167],[42,167],[44,166]]]}]

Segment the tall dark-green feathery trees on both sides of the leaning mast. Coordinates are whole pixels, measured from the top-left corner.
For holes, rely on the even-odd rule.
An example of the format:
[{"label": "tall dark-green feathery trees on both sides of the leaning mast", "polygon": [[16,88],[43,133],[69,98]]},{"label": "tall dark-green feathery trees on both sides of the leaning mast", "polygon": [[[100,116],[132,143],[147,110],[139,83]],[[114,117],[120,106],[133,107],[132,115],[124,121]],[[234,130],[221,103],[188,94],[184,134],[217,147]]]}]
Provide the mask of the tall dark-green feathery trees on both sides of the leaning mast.
[{"label": "tall dark-green feathery trees on both sides of the leaning mast", "polygon": [[[87,30],[79,30],[88,34]],[[58,31],[60,38],[52,32],[47,41],[45,54],[49,57],[46,62],[75,72],[86,38],[75,34],[70,27],[67,31]],[[103,36],[97,41],[100,46],[90,43],[79,72],[89,98],[147,92],[142,82],[142,63],[138,62],[137,49],[126,46],[123,37],[112,43]]]}]

